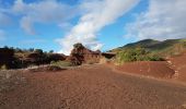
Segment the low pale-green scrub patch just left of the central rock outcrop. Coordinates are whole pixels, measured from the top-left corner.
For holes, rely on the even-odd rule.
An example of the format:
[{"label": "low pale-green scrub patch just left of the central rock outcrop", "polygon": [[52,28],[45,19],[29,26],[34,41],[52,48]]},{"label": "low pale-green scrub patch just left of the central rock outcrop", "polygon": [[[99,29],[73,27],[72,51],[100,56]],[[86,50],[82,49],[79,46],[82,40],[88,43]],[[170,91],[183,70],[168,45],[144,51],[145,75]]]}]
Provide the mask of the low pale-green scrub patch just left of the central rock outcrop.
[{"label": "low pale-green scrub patch just left of the central rock outcrop", "polygon": [[51,65],[55,65],[55,66],[59,66],[59,68],[63,68],[63,66],[72,66],[72,63],[69,62],[69,61],[51,61],[50,62]]}]

